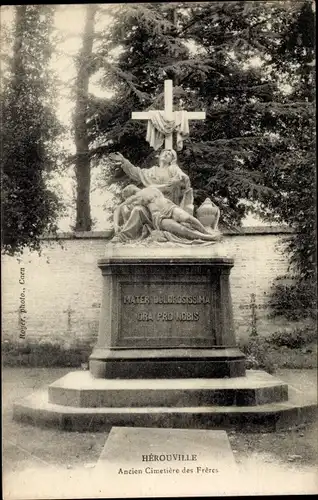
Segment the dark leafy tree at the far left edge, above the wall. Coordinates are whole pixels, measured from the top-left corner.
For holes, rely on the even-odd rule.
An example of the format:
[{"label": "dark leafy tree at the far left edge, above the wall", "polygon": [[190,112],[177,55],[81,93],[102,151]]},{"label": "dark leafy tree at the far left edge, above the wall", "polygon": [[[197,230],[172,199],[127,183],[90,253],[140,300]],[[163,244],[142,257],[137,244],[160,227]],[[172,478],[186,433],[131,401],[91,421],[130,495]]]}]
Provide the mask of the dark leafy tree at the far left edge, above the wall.
[{"label": "dark leafy tree at the far left edge, above the wall", "polygon": [[40,236],[56,229],[61,209],[47,187],[61,131],[48,91],[54,7],[21,5],[15,13],[11,74],[1,96],[2,245],[9,255],[39,250]]}]

